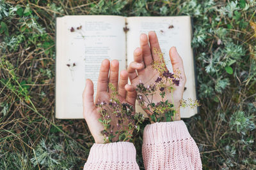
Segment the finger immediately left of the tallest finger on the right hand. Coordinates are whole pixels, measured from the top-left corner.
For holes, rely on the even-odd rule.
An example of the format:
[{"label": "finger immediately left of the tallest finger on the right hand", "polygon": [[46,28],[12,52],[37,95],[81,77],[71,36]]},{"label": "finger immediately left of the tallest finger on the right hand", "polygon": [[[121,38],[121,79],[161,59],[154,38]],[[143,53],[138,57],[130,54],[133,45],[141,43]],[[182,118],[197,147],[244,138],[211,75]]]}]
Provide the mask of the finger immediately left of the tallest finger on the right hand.
[{"label": "finger immediately left of the tallest finger on the right hand", "polygon": [[142,50],[143,61],[145,66],[150,66],[151,62],[153,61],[151,51],[148,45],[148,36],[147,34],[140,35],[140,48]]}]

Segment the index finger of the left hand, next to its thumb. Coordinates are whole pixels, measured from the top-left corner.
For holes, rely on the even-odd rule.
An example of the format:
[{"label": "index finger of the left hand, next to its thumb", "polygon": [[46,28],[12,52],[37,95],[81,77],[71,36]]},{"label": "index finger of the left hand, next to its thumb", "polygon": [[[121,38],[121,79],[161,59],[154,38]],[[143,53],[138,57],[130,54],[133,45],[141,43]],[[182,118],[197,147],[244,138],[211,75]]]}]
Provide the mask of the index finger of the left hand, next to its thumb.
[{"label": "index finger of the left hand, next to its thumb", "polygon": [[109,60],[102,61],[100,66],[100,73],[97,83],[97,94],[99,92],[106,92],[108,89],[108,72],[109,72]]}]

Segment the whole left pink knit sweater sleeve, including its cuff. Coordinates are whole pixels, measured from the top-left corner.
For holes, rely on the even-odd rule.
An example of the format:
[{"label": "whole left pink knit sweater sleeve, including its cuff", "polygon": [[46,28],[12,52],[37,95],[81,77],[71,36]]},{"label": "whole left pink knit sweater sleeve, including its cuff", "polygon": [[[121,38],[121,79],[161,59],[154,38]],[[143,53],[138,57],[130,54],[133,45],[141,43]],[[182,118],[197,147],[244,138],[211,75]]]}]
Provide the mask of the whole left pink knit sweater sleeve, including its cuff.
[{"label": "whole left pink knit sweater sleeve, including its cuff", "polygon": [[94,143],[84,164],[85,169],[139,169],[136,162],[136,149],[129,142]]}]

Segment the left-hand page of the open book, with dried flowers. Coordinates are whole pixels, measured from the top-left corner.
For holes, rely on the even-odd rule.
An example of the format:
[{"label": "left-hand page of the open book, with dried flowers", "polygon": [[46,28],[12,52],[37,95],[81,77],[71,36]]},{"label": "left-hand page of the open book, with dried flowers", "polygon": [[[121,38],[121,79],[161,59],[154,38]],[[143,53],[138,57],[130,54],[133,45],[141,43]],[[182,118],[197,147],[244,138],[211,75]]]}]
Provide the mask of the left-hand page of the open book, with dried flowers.
[{"label": "left-hand page of the open book, with dried flowers", "polygon": [[125,18],[108,15],[57,18],[56,118],[83,118],[86,78],[94,84],[102,60],[116,59],[125,69]]}]

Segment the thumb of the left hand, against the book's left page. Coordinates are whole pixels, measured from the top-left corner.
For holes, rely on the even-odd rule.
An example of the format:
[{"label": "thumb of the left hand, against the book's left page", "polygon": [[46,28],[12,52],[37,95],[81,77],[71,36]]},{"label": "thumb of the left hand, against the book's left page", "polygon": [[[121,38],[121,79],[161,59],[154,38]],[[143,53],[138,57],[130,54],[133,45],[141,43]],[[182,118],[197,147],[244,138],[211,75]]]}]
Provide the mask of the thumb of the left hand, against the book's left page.
[{"label": "thumb of the left hand, against the book's left page", "polygon": [[93,82],[90,79],[86,80],[86,85],[83,91],[83,107],[86,111],[84,111],[84,118],[87,113],[91,112],[95,106],[93,103]]}]

